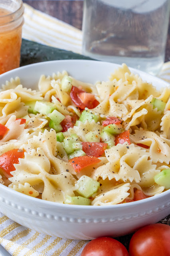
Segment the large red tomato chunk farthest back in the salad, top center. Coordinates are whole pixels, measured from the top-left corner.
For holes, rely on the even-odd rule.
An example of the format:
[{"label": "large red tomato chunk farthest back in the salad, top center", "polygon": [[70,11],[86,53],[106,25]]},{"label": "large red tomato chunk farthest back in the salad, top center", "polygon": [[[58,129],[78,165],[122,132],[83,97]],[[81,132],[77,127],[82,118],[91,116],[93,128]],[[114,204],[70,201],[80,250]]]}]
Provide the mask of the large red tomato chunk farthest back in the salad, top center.
[{"label": "large red tomato chunk farthest back in the salad, top center", "polygon": [[81,90],[75,86],[71,87],[70,97],[73,103],[80,109],[93,109],[99,102],[95,99],[95,96],[91,93],[86,93],[84,90]]}]

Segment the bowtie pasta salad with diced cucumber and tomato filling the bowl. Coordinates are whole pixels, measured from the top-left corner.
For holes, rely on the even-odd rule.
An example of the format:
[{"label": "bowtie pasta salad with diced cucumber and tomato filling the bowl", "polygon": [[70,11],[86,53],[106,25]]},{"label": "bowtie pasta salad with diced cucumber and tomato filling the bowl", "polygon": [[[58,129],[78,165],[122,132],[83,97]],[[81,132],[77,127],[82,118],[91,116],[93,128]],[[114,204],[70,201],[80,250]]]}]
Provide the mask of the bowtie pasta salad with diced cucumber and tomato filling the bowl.
[{"label": "bowtie pasta salad with diced cucumber and tomato filling the bowl", "polygon": [[128,67],[83,83],[66,71],[0,91],[0,182],[64,204],[103,206],[170,188],[170,87]]}]

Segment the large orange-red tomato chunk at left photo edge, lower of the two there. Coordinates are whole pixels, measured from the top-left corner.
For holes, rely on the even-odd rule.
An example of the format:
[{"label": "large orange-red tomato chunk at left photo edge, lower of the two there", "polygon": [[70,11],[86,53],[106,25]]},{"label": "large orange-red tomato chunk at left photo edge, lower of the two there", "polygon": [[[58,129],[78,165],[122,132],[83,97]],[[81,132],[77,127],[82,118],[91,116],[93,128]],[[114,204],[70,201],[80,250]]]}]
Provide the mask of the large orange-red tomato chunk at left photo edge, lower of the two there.
[{"label": "large orange-red tomato chunk at left photo edge, lower of the two there", "polygon": [[12,149],[0,156],[0,168],[5,171],[4,174],[12,176],[10,172],[15,171],[14,163],[19,163],[18,158],[23,158],[24,152],[23,149]]}]

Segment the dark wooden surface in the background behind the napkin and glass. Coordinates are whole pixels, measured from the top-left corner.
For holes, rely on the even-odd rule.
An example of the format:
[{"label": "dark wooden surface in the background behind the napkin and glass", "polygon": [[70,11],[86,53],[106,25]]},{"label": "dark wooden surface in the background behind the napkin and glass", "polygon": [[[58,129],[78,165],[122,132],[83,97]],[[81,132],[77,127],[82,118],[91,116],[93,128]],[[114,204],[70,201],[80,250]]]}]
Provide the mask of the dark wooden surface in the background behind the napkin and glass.
[{"label": "dark wooden surface in the background behind the napkin and glass", "polygon": [[[59,20],[63,20],[81,29],[83,18],[83,1],[78,0],[23,0],[30,6],[45,12]],[[170,22],[166,44],[165,61],[170,61]]]}]

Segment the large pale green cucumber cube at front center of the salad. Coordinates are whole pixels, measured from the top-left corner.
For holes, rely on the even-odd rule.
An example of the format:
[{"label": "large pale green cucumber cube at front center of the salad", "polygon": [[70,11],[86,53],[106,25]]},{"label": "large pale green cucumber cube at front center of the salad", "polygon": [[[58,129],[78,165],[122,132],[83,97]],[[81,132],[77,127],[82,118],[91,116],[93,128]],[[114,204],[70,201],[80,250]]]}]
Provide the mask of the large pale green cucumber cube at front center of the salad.
[{"label": "large pale green cucumber cube at front center of the salad", "polygon": [[75,184],[77,187],[76,191],[85,198],[90,198],[94,193],[97,192],[100,187],[100,183],[86,175],[81,176]]}]

